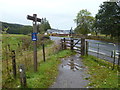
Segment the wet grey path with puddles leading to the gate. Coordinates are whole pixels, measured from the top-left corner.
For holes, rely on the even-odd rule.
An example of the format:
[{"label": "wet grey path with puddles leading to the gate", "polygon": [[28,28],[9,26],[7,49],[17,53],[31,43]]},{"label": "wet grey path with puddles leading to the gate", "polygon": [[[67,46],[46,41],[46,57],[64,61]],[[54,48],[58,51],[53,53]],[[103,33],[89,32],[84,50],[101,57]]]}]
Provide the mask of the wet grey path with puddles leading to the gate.
[{"label": "wet grey path with puddles leading to the gate", "polygon": [[89,88],[89,76],[79,55],[63,58],[59,65],[59,75],[50,88]]}]

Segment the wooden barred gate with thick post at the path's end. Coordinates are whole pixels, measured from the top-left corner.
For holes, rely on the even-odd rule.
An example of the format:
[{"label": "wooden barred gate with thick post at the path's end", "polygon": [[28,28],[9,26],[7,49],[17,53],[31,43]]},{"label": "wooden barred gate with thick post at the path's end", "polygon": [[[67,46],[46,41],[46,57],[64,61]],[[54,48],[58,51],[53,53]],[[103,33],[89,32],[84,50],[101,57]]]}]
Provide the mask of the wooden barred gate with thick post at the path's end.
[{"label": "wooden barred gate with thick post at the path's end", "polygon": [[82,56],[88,55],[88,42],[85,41],[85,38],[63,38],[61,39],[61,45],[62,49],[71,49],[72,51],[74,50]]}]

